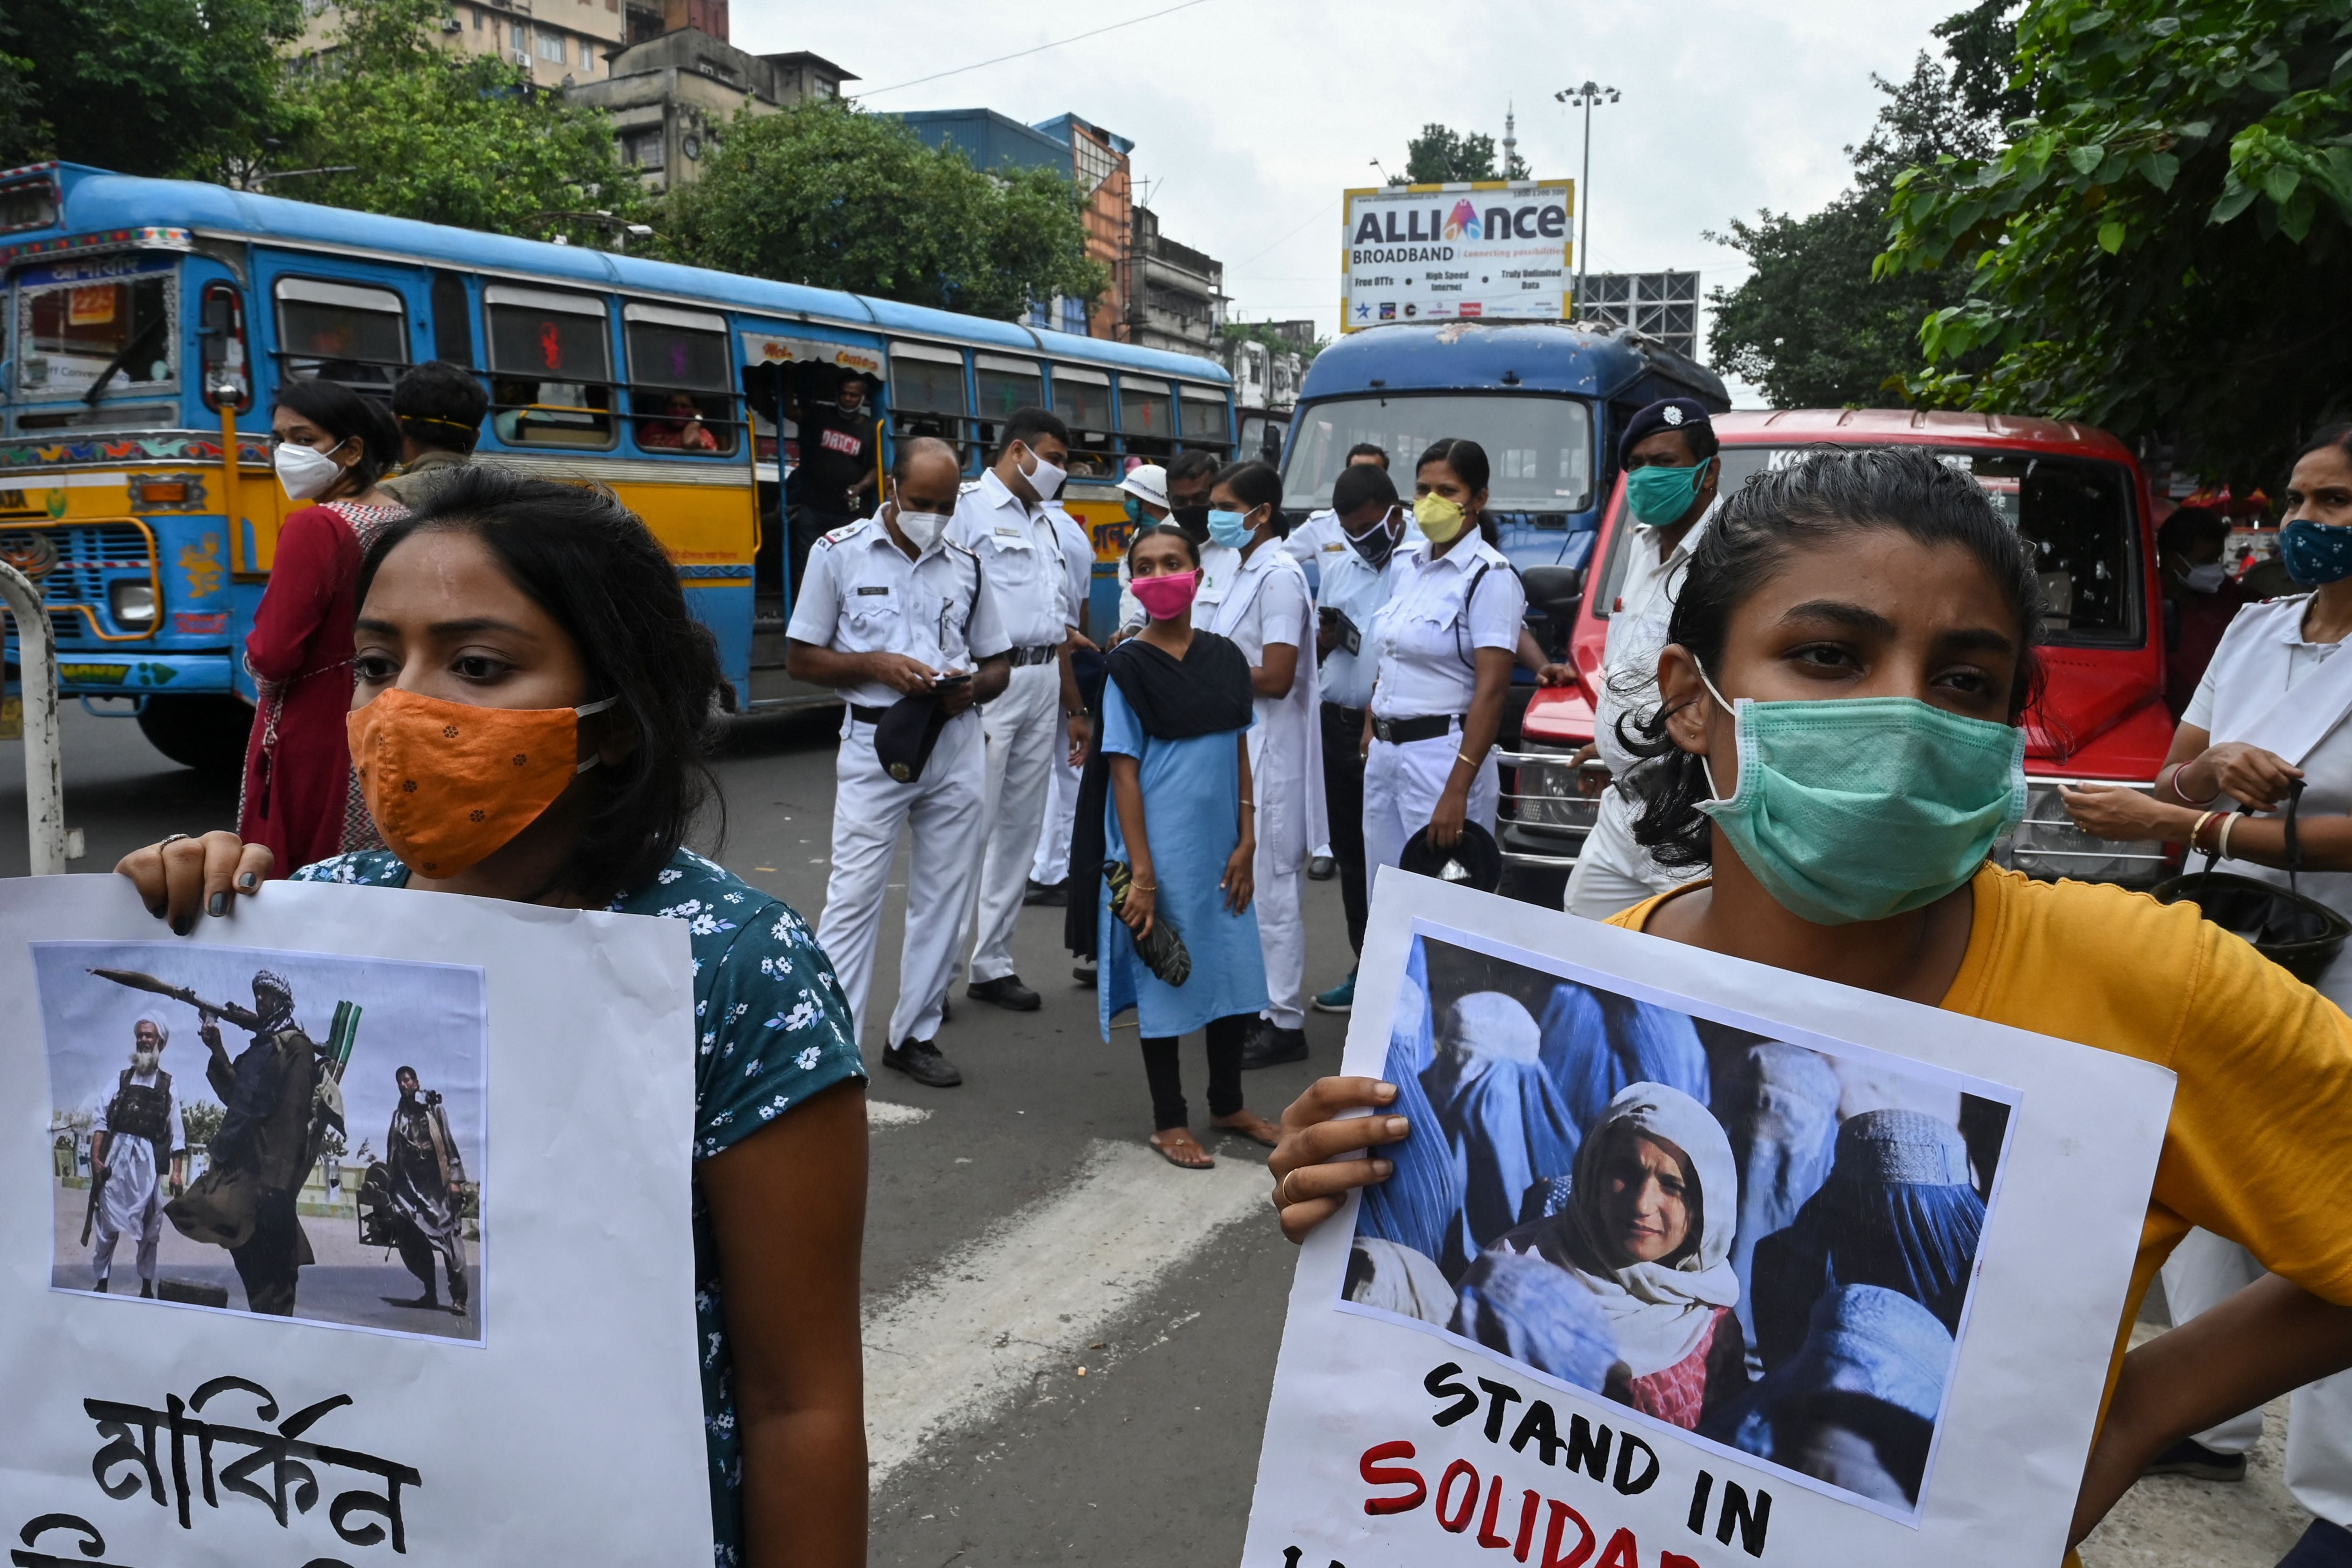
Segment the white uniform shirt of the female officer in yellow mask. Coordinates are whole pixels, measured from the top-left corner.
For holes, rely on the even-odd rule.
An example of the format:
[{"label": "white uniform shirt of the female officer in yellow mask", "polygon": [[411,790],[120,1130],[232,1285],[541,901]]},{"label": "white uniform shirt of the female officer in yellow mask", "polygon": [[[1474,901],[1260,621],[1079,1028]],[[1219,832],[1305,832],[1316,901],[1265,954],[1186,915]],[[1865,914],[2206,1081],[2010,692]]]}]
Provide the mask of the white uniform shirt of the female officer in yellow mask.
[{"label": "white uniform shirt of the female officer in yellow mask", "polygon": [[[1475,534],[1444,555],[1428,543],[1397,545],[1390,569],[1388,604],[1367,628],[1378,654],[1371,710],[1383,719],[1470,712],[1477,649],[1519,651],[1526,621],[1519,574]],[[1477,595],[1465,607],[1472,581]]]}]

